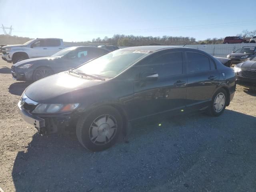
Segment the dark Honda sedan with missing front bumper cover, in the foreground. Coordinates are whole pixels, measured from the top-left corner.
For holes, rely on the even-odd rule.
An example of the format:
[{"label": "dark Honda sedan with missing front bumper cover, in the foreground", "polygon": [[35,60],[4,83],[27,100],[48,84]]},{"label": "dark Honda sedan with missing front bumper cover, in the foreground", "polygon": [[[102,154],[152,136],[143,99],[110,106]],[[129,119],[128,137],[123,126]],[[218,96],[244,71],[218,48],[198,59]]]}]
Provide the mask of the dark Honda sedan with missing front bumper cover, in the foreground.
[{"label": "dark Honda sedan with missing front bumper cover, in the foreground", "polygon": [[40,134],[76,131],[92,151],[112,146],[131,122],[206,111],[234,97],[234,70],[201,50],[130,47],[31,84],[18,108]]}]

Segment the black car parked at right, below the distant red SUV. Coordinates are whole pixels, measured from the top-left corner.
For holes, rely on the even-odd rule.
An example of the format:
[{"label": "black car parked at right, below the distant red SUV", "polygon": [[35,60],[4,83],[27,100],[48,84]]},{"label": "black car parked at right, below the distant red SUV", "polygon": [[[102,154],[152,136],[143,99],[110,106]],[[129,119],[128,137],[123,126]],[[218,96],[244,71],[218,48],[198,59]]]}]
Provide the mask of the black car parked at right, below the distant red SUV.
[{"label": "black car parked at right, below the distant red SUV", "polygon": [[252,58],[253,56],[256,55],[256,47],[248,46],[248,47],[242,47],[235,52],[232,51],[231,54],[227,55],[227,58],[231,59],[232,64],[238,64],[241,62],[244,62],[247,60],[247,58]]}]

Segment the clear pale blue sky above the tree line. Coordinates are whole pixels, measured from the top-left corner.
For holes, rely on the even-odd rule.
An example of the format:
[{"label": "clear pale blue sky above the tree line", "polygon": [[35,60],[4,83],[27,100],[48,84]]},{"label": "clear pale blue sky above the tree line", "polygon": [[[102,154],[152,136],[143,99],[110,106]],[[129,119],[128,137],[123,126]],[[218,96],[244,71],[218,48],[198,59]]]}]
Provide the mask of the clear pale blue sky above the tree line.
[{"label": "clear pale blue sky above the tree line", "polygon": [[12,25],[17,36],[74,42],[117,33],[204,40],[256,30],[254,5],[255,0],[0,0],[0,24]]}]

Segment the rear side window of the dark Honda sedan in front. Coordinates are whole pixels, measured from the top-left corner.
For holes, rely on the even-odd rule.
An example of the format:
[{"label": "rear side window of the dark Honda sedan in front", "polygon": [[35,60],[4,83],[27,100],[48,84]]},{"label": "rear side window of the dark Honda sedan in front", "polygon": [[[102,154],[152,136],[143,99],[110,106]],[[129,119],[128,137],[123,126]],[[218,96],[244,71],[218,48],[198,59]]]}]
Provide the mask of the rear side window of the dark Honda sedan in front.
[{"label": "rear side window of the dark Honda sedan in front", "polygon": [[203,54],[187,52],[188,57],[188,73],[196,73],[210,70],[210,61]]}]

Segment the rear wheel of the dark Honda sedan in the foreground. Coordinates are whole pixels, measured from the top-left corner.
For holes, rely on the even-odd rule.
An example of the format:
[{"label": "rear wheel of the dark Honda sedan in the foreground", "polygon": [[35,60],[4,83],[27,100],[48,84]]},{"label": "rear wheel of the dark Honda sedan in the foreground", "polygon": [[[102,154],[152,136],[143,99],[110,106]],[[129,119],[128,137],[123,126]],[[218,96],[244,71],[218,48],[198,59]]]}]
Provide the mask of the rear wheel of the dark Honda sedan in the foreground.
[{"label": "rear wheel of the dark Honda sedan in the foreground", "polygon": [[[224,101],[218,101],[218,98],[221,99],[221,96],[224,96]],[[220,116],[226,108],[227,99],[228,97],[226,90],[220,88],[212,97],[212,101],[208,107],[207,114],[210,116]]]}]

